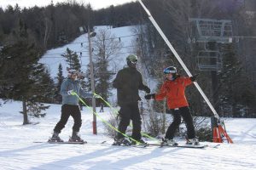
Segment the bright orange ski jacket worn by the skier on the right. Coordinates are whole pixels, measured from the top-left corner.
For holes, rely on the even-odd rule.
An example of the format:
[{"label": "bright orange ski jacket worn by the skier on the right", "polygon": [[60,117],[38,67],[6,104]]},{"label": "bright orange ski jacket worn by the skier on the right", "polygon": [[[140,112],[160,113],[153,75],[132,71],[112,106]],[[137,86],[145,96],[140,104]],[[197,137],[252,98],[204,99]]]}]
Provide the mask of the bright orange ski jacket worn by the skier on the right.
[{"label": "bright orange ski jacket worn by the skier on the right", "polygon": [[169,109],[189,106],[185,89],[191,83],[190,77],[177,77],[174,81],[166,80],[160,88],[160,92],[155,94],[155,99],[162,100],[166,97]]}]

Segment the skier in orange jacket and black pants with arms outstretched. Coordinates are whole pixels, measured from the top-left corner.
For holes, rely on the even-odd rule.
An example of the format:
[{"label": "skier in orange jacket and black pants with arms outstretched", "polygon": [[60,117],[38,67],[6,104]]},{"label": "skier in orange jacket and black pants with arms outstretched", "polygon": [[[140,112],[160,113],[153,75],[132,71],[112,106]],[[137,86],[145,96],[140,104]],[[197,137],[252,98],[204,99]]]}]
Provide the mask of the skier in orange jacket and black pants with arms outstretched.
[{"label": "skier in orange jacket and black pants with arms outstretched", "polygon": [[187,127],[187,144],[199,144],[195,138],[195,127],[193,118],[189,111],[189,104],[185,96],[187,86],[195,82],[197,75],[193,77],[180,77],[174,66],[169,66],[164,70],[166,81],[160,88],[158,94],[147,94],[145,99],[163,100],[167,99],[168,108],[172,112],[173,122],[166,131],[166,137],[162,144],[177,145],[173,140],[174,134],[181,123],[181,116]]}]

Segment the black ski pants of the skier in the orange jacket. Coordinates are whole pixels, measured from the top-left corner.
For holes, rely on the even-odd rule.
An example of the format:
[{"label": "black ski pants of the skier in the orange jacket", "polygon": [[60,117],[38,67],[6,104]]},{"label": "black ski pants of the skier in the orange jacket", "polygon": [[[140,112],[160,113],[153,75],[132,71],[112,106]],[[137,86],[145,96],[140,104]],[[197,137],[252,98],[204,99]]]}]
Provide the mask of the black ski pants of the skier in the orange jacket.
[{"label": "black ski pants of the skier in the orange jacket", "polygon": [[183,121],[187,127],[188,139],[194,139],[195,127],[193,125],[193,118],[189,111],[189,107],[181,107],[178,108],[178,110],[171,110],[171,113],[173,116],[173,121],[166,131],[166,139],[173,139],[174,134],[181,123],[181,116],[183,117]]}]

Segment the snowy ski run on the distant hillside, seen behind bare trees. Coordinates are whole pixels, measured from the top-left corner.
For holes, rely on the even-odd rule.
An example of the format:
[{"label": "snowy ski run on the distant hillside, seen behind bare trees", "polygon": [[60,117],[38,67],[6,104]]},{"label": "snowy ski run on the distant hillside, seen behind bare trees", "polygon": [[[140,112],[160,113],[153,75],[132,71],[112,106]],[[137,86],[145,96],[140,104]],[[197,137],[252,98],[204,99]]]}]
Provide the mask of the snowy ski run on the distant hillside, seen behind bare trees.
[{"label": "snowy ski run on the distant hillside, seen behind bare trees", "polygon": [[[125,65],[125,58],[128,54],[132,53],[131,48],[125,48],[125,47],[131,47],[132,46],[132,40],[136,38],[134,35],[135,33],[132,31],[132,28],[134,26],[124,26],[124,27],[119,27],[119,28],[112,28],[110,26],[96,26],[94,29],[96,33],[100,30],[108,30],[111,32],[111,34],[114,35],[119,41],[120,37],[120,43],[123,43],[124,48],[121,48],[119,51],[119,54],[114,55],[113,57],[115,63],[111,63],[115,66],[117,66],[117,70],[122,68]],[[88,52],[88,35],[83,34],[80,37],[76,38],[73,42],[70,42],[69,44],[61,47],[61,48],[54,48],[48,50],[42,59],[40,59],[40,63],[43,63],[46,65],[46,67],[49,70],[49,73],[51,77],[56,77],[58,73],[58,66],[59,64],[62,65],[63,67],[63,74],[64,76],[67,75],[67,62],[65,59],[61,56],[61,54],[64,54],[67,51],[67,48],[71,49],[74,52],[77,52],[77,54],[80,56],[80,53],[82,53],[82,57],[79,58],[81,59],[81,64],[82,64],[82,71],[86,71],[87,65],[90,62],[89,59],[89,52]],[[91,40],[93,40],[95,37],[92,37]],[[81,45],[81,42],[83,45]]]}]

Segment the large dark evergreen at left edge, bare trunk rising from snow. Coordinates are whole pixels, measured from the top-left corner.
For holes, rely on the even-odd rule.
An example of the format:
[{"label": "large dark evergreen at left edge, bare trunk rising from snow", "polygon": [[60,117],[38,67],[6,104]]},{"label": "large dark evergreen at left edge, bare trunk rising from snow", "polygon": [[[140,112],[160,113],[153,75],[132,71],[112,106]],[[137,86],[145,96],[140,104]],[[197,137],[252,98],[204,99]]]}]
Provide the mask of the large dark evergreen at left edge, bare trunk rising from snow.
[{"label": "large dark evergreen at left edge, bare trunk rising from snow", "polygon": [[[40,48],[32,43],[26,25],[13,32],[12,43],[3,46],[0,53],[0,91],[3,99],[22,100],[23,124],[28,124],[27,101],[39,101],[49,91],[49,75],[39,64]],[[43,79],[44,77],[44,79]]]}]

